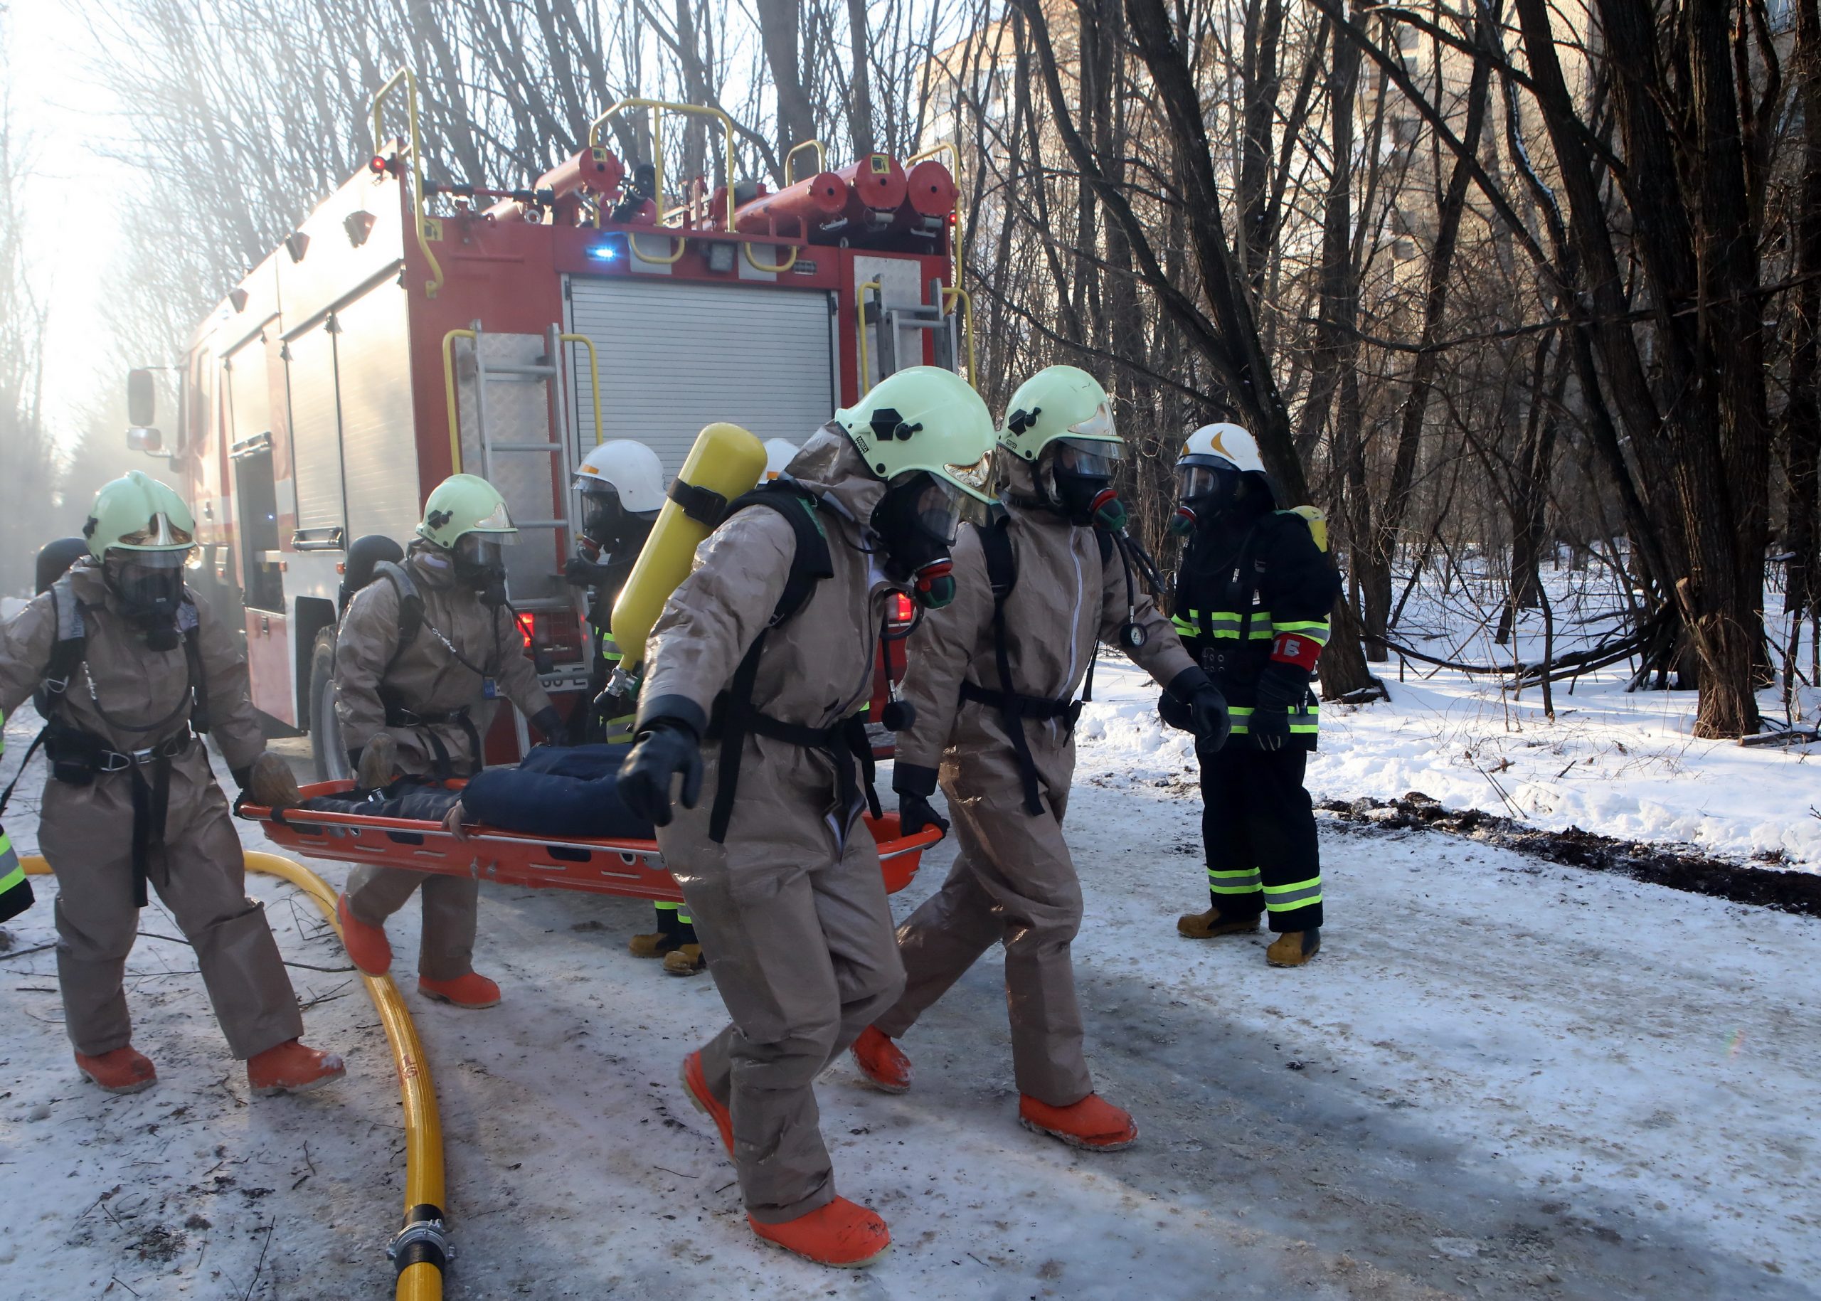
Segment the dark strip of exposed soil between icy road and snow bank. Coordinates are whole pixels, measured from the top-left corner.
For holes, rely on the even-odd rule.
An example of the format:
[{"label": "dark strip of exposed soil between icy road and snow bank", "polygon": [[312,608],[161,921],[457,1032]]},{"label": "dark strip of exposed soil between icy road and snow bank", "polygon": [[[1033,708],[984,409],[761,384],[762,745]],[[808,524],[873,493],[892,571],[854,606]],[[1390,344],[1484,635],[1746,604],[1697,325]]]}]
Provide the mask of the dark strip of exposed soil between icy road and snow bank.
[{"label": "dark strip of exposed soil between icy road and snow bank", "polygon": [[1411,791],[1400,800],[1373,800],[1369,796],[1324,800],[1318,807],[1346,822],[1384,831],[1417,827],[1450,831],[1570,867],[1619,873],[1652,886],[1668,886],[1690,895],[1712,895],[1734,904],[1759,904],[1779,907],[1785,913],[1821,917],[1821,875],[1817,873],[1752,867],[1641,840],[1597,836],[1581,827],[1541,831],[1479,809],[1446,809],[1422,791]]}]

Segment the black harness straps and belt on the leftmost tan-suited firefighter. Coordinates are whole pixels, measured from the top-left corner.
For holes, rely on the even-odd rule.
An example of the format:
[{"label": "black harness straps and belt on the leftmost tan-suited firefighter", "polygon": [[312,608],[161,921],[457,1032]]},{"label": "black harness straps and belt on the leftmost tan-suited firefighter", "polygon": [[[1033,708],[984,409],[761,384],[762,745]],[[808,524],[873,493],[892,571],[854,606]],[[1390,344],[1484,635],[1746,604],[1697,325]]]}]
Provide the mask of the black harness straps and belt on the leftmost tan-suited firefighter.
[{"label": "black harness straps and belt on the leftmost tan-suited firefighter", "polygon": [[[84,605],[76,598],[67,574],[51,585],[51,610],[56,620],[56,640],[51,643],[44,681],[35,692],[35,703],[46,720],[44,729],[25,749],[25,760],[11,785],[0,793],[0,813],[5,813],[13,789],[25,774],[25,765],[31,763],[38,745],[44,745],[49,758],[51,776],[66,785],[93,785],[97,776],[129,773],[133,776],[133,906],[146,907],[149,902],[146,880],[151,873],[151,847],[164,844],[164,827],[171,807],[171,760],[184,754],[198,732],[209,731],[209,689],[202,665],[202,627],[197,605],[186,590],[173,623],[173,632],[182,640],[188,669],[184,692],[177,705],[153,723],[127,723],[102,709],[95,680],[87,674],[87,620],[93,618],[95,607]],[[78,669],[84,671],[89,683],[89,705],[102,722],[115,731],[137,736],[162,734],[160,740],[140,749],[117,751],[107,738],[69,722],[64,702],[69,681]],[[178,729],[169,731],[173,725]]]}]

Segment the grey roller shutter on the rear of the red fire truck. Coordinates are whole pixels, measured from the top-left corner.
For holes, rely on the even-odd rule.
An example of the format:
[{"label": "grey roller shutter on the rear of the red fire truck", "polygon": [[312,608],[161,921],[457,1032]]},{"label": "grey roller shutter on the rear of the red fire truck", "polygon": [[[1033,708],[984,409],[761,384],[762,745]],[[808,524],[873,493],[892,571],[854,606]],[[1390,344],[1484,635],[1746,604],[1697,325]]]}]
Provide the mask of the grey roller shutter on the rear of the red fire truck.
[{"label": "grey roller shutter on the rear of the red fire truck", "polygon": [[[645,443],[665,474],[716,421],[801,441],[838,406],[830,295],[623,277],[570,279],[570,330],[601,355],[606,437]],[[574,346],[572,346],[574,352]],[[586,357],[570,359],[574,428],[594,437]]]}]

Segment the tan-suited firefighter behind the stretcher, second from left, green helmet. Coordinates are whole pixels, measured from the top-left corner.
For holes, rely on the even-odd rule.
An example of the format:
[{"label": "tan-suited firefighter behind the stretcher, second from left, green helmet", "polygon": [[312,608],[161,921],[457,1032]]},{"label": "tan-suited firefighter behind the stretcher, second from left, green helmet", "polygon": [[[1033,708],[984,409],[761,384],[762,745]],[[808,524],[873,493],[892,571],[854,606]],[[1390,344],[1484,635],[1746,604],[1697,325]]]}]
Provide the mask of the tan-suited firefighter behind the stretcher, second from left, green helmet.
[{"label": "tan-suited firefighter behind the stretcher, second from left, green helmet", "polygon": [[[517,528],[486,479],[455,474],[432,490],[404,565],[379,565],[335,634],[335,712],[364,789],[406,776],[472,776],[499,700],[546,740],[563,720],[524,656],[504,603],[501,545]],[[392,966],[386,918],[422,889],[417,989],[457,1008],[492,1008],[499,986],[473,969],[481,886],[404,867],[361,866],[337,902],[348,957],[368,975]]]}]

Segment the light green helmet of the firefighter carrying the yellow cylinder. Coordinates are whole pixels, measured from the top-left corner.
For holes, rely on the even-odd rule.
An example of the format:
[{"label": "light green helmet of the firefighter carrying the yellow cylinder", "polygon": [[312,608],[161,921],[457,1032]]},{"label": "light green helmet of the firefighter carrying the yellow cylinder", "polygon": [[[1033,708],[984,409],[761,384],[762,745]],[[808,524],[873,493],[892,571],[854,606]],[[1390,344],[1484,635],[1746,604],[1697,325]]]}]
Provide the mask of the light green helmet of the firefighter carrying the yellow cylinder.
[{"label": "light green helmet of the firefighter carrying the yellow cylinder", "polygon": [[885,481],[927,470],[976,501],[992,499],[992,412],[952,370],[909,366],[890,374],[838,410],[834,421]]}]

